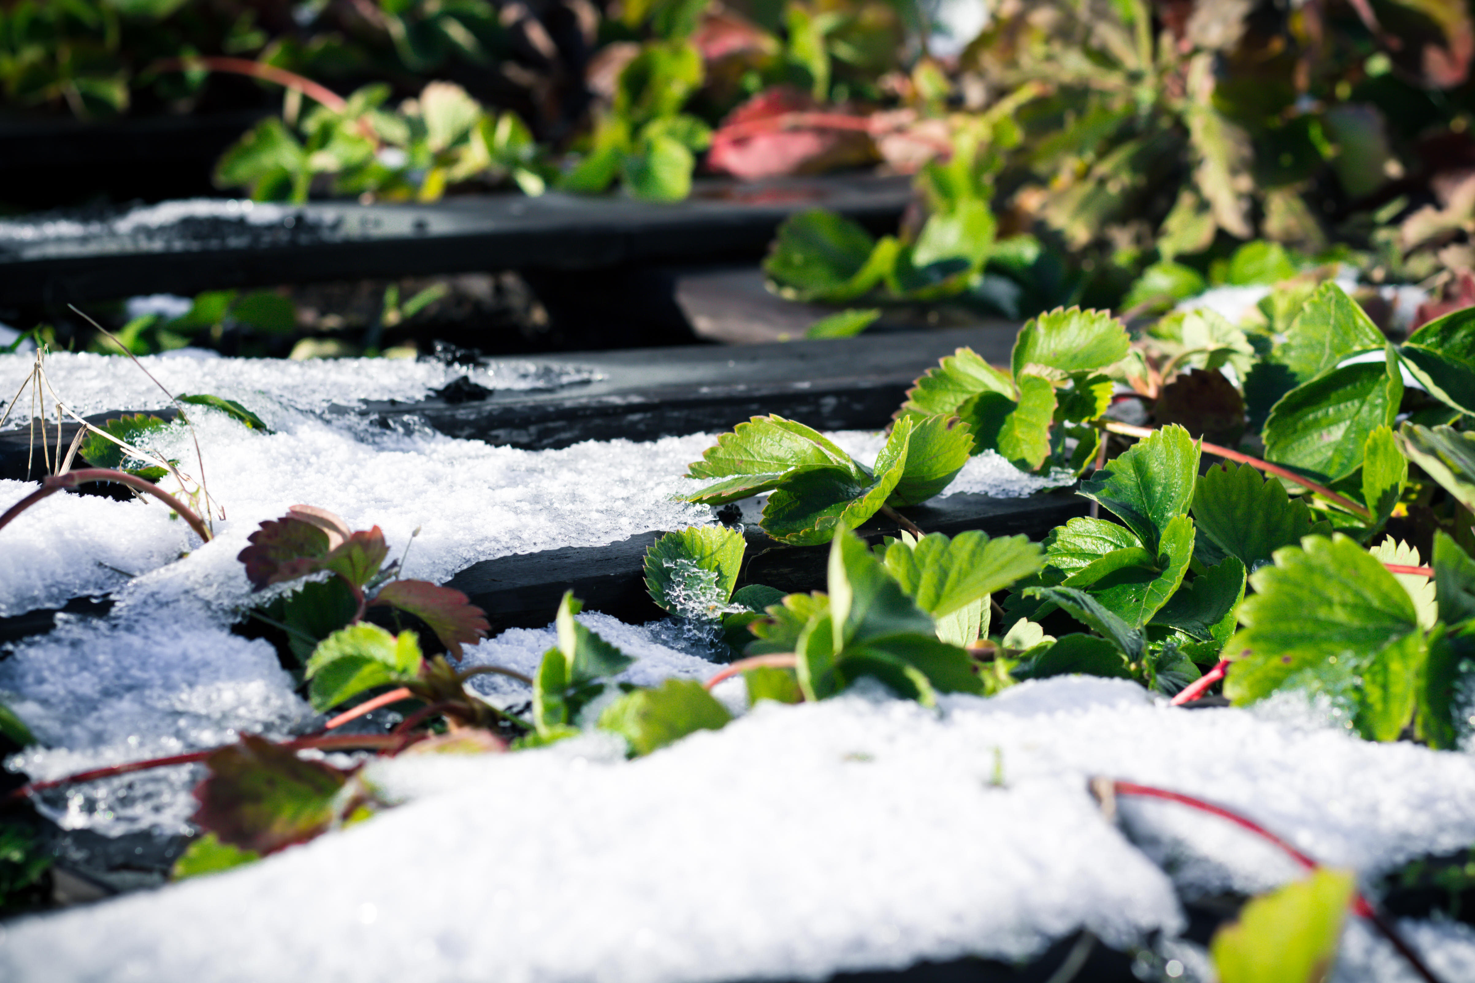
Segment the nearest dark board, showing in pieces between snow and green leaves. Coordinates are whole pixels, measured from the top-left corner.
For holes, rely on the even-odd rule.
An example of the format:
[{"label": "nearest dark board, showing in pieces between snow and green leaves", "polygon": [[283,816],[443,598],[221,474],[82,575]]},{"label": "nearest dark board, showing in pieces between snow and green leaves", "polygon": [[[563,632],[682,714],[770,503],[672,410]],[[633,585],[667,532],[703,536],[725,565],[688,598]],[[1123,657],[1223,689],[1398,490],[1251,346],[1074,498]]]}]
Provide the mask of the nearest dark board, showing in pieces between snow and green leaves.
[{"label": "nearest dark board, showing in pieces between snow and green leaves", "polygon": [[[776,542],[757,525],[757,503],[749,500],[742,506],[748,553],[739,587],[767,584],[788,592],[823,590],[829,547]],[[1040,539],[1065,520],[1084,516],[1089,507],[1090,503],[1065,489],[1030,498],[948,495],[903,513],[923,532],[957,535],[982,529],[990,536],[1024,534]],[[873,520],[860,532],[875,544],[895,535],[897,528]],[[603,547],[566,547],[482,560],[457,573],[447,587],[463,591],[485,610],[493,631],[547,625],[563,591],[574,591],[590,610],[640,623],[664,616],[646,594],[643,573],[646,550],[659,535],[645,532]]]}]

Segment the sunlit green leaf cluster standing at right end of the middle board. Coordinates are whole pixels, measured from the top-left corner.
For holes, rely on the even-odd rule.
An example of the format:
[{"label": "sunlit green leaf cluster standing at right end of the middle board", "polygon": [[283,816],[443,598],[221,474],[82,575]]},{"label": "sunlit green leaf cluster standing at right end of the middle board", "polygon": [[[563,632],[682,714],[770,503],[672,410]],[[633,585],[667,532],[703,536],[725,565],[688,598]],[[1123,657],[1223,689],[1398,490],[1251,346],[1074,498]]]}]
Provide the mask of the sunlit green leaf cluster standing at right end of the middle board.
[{"label": "sunlit green leaf cluster standing at right end of the middle board", "polygon": [[1099,433],[1089,426],[1109,405],[1112,382],[1102,370],[1127,355],[1121,321],[1102,311],[1061,308],[1028,321],[1015,339],[1010,370],[994,368],[960,348],[907,392],[898,420],[959,416],[974,433],[974,452],[996,451],[1024,470],[1084,470]]}]

